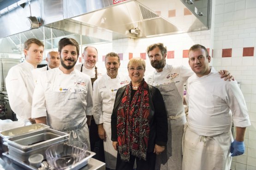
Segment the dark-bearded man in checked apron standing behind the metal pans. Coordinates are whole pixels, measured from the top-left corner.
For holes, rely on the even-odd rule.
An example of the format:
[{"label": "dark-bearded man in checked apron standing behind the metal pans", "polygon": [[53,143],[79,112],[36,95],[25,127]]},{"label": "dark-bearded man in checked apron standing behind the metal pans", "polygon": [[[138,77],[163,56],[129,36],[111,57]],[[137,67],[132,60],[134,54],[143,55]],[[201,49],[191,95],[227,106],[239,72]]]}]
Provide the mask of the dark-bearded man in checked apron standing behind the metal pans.
[{"label": "dark-bearded man in checked apron standing behind the metal pans", "polygon": [[58,54],[59,68],[42,72],[37,81],[32,118],[54,130],[72,132],[74,140],[84,142],[90,150],[86,117],[93,113],[92,85],[89,76],[74,67],[79,44],[72,38],[63,38]]}]

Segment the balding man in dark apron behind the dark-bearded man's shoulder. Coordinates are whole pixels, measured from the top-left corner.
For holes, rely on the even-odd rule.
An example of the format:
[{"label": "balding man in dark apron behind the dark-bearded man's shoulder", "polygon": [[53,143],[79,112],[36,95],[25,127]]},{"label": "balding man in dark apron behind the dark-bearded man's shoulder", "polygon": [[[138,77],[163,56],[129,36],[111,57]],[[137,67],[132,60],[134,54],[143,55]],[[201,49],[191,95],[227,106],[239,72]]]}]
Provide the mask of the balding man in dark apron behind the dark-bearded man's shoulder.
[{"label": "balding man in dark apron behind the dark-bearded man's shoulder", "polygon": [[[93,85],[96,79],[99,79],[106,73],[106,70],[95,66],[98,60],[98,51],[95,47],[86,46],[83,50],[82,57],[83,57],[83,64],[77,64],[75,68],[80,72],[89,75]],[[98,159],[104,162],[103,141],[98,136],[98,127],[95,124],[95,120],[93,116],[88,121],[90,126],[89,137],[90,137],[91,151],[96,153],[96,155],[94,156],[95,159]]]}]

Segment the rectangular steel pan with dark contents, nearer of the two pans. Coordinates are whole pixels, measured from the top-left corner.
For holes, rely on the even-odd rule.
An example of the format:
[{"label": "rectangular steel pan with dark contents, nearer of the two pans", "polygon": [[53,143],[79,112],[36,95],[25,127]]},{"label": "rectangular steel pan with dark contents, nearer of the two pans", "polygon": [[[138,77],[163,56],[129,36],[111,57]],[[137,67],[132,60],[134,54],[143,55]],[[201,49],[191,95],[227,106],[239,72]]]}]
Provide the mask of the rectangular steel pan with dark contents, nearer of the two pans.
[{"label": "rectangular steel pan with dark contents, nearer of the two pans", "polygon": [[9,138],[5,138],[8,146],[16,147],[24,152],[44,147],[51,143],[68,139],[69,134],[53,130],[53,129],[42,129],[36,130],[22,135],[17,135]]}]

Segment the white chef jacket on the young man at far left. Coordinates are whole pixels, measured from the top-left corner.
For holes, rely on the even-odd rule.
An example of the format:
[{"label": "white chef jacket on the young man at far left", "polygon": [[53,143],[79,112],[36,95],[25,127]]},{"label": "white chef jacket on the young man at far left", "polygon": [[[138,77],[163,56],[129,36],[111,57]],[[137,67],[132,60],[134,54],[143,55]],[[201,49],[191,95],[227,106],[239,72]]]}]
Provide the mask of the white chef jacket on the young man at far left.
[{"label": "white chef jacket on the young man at far left", "polygon": [[6,90],[17,119],[31,118],[32,96],[40,72],[26,60],[13,66],[6,76]]}]

